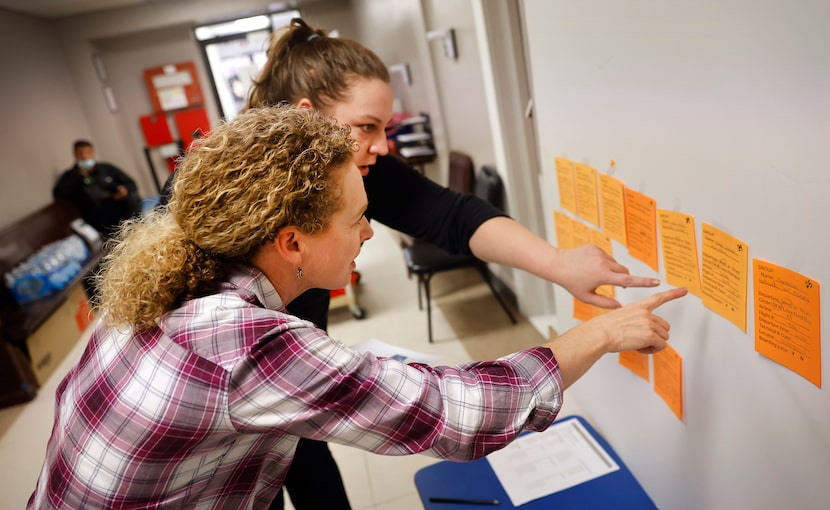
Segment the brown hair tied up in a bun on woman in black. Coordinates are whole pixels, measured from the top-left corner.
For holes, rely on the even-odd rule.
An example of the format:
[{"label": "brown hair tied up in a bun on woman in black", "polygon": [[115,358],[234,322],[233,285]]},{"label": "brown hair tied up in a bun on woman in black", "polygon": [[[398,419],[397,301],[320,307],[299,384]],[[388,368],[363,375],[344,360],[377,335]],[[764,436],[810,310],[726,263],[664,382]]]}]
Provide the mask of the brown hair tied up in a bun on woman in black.
[{"label": "brown hair tied up in a bun on woman in black", "polygon": [[247,106],[296,104],[307,97],[315,108],[327,108],[348,95],[354,80],[373,78],[390,82],[389,70],[372,50],[294,18],[271,39],[268,61],[253,80]]}]

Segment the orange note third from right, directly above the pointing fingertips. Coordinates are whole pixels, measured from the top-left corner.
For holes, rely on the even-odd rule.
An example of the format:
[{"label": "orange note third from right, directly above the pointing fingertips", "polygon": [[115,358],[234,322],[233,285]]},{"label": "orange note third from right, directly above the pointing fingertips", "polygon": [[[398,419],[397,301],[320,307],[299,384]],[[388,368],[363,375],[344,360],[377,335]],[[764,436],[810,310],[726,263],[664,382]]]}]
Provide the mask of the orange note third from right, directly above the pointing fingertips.
[{"label": "orange note third from right, directly above the pointing fingertips", "polygon": [[660,224],[666,282],[675,287],[686,287],[689,292],[701,297],[694,217],[657,209],[657,219]]}]

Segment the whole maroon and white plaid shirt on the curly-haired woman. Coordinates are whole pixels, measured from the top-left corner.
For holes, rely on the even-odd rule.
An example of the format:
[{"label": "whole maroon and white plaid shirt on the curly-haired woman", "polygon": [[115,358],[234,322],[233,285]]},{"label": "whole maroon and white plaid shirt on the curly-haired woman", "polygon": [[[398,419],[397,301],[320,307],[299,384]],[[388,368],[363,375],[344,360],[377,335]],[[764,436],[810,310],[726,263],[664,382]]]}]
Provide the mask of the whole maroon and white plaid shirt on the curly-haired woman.
[{"label": "whole maroon and white plaid shirt on the curly-haired woman", "polygon": [[561,405],[548,349],[405,365],[281,310],[242,268],[153,330],[99,325],[58,388],[29,508],[264,508],[299,437],[471,459],[544,429]]}]

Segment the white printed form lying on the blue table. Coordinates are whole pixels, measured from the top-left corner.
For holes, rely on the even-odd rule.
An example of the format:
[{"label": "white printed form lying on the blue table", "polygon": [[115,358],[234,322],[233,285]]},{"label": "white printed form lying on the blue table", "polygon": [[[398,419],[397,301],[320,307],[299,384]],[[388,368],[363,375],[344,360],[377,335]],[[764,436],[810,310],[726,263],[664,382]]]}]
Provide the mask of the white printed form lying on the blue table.
[{"label": "white printed form lying on the blue table", "polygon": [[513,506],[620,469],[578,420],[524,434],[486,459]]}]

